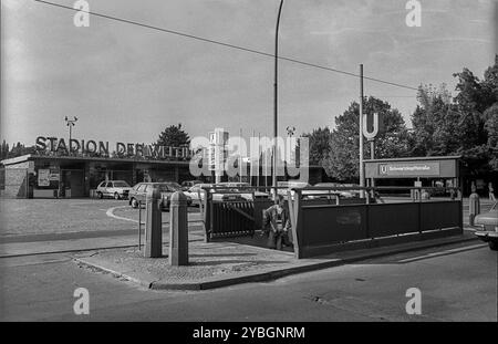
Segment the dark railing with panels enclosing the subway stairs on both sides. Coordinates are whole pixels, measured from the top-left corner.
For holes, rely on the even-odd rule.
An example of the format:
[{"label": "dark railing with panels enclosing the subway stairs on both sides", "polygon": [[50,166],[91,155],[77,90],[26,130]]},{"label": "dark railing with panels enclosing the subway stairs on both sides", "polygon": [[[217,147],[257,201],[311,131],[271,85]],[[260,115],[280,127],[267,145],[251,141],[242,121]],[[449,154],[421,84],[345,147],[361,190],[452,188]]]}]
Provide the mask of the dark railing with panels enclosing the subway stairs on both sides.
[{"label": "dark railing with panels enclosing the subway stairs on both sides", "polygon": [[[262,227],[263,210],[273,204],[272,195],[284,195],[294,254],[308,258],[461,234],[459,189],[448,187],[446,195],[430,197],[436,189],[442,195],[442,188],[430,187],[248,187],[243,190],[212,187],[204,190],[200,212],[206,241],[252,237]],[[257,197],[261,191],[267,191],[269,197]],[[345,191],[357,195],[364,191],[365,197],[344,198]],[[243,198],[237,197],[242,194]]]}]

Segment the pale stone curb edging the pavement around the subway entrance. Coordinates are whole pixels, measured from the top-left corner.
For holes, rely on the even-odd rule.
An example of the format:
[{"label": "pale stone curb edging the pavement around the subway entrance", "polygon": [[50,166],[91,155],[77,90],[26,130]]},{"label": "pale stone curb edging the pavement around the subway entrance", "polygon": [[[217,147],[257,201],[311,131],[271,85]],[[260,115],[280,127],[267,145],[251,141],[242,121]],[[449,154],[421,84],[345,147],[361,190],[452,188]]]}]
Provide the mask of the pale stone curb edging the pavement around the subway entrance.
[{"label": "pale stone curb edging the pavement around the subway entrance", "polygon": [[340,265],[344,265],[347,263],[359,262],[367,259],[374,259],[374,258],[381,258],[397,253],[404,253],[404,252],[411,252],[411,251],[419,251],[424,249],[435,248],[435,247],[443,247],[447,244],[456,244],[456,243],[463,243],[467,241],[475,241],[478,240],[478,238],[467,237],[467,238],[455,238],[453,240],[445,240],[442,242],[434,242],[430,244],[419,244],[417,247],[405,247],[405,248],[393,248],[391,250],[384,250],[383,252],[376,252],[376,253],[363,253],[363,254],[356,254],[352,257],[346,258],[315,258],[313,260],[324,260],[320,262],[302,262],[300,265],[283,268],[283,269],[271,269],[262,272],[252,272],[252,273],[245,273],[237,277],[227,277],[227,278],[208,278],[198,282],[185,282],[185,283],[166,283],[160,281],[147,281],[138,278],[131,277],[126,272],[115,271],[110,268],[102,267],[100,264],[86,262],[84,259],[74,258],[74,260],[81,264],[84,264],[90,268],[94,268],[107,273],[111,273],[112,275],[124,278],[128,281],[132,281],[136,284],[139,284],[142,286],[145,286],[151,290],[191,290],[191,291],[200,291],[200,290],[209,290],[209,289],[217,289],[217,288],[224,288],[235,284],[242,284],[242,283],[253,283],[253,282],[264,282],[264,281],[272,281],[277,280],[287,275],[291,274],[298,274],[303,272],[310,272],[310,271],[317,271],[317,270],[323,270],[329,268],[335,268]]}]

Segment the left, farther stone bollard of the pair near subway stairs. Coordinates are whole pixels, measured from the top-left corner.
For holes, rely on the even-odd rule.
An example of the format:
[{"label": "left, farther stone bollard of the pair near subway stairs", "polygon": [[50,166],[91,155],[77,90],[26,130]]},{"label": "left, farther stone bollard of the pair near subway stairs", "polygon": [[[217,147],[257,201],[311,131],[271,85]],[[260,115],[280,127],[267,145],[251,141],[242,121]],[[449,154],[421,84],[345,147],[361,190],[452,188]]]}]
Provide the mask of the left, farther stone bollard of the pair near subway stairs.
[{"label": "left, farther stone bollard of the pair near subway stairs", "polygon": [[145,252],[147,258],[163,256],[163,212],[159,189],[147,191],[145,215]]}]

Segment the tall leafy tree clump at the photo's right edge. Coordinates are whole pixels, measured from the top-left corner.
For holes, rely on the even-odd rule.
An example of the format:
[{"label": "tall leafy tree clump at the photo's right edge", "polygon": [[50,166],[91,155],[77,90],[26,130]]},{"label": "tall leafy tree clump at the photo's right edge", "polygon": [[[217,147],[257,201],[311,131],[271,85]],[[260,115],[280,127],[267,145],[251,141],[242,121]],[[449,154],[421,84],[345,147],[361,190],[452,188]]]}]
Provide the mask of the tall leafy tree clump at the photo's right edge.
[{"label": "tall leafy tree clump at the photo's right edge", "polygon": [[445,87],[421,86],[412,154],[460,155],[470,175],[498,171],[498,55],[480,81],[468,69],[455,73],[458,83],[452,100]]}]

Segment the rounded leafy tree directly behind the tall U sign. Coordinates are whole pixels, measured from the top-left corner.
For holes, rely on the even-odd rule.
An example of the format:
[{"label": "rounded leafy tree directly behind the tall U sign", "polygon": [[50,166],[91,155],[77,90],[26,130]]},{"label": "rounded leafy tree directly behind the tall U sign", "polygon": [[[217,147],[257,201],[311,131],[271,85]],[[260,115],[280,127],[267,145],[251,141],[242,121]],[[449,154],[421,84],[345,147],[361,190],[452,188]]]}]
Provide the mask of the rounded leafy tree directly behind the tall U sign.
[{"label": "rounded leafy tree directly behind the tall U sign", "polygon": [[[378,113],[384,121],[384,131],[375,137],[375,158],[403,157],[408,154],[408,132],[402,115],[391,108],[387,102],[375,97],[364,101],[364,113]],[[330,177],[341,181],[359,179],[360,140],[359,140],[360,104],[351,103],[350,107],[335,118],[335,129],[331,134],[330,152],[323,159],[323,167]],[[370,144],[364,140],[365,157],[370,156]]]}]

